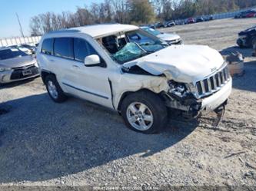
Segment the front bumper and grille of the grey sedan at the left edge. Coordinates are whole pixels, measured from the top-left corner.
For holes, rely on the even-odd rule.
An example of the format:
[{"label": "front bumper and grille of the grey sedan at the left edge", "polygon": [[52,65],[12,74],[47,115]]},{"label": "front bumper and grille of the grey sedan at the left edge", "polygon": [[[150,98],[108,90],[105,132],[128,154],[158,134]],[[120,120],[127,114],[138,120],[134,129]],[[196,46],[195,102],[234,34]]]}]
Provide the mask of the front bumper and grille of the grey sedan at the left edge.
[{"label": "front bumper and grille of the grey sedan at the left edge", "polygon": [[10,70],[0,72],[0,84],[7,84],[14,81],[22,81],[32,77],[39,76],[39,71],[37,67],[31,68],[31,74],[23,75],[23,70]]}]

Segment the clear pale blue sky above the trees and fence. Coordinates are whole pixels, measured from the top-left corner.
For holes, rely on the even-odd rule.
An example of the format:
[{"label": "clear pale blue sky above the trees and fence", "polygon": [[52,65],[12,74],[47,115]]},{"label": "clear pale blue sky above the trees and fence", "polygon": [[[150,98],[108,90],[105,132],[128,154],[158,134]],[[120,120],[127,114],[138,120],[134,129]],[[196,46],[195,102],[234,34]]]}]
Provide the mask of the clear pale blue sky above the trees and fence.
[{"label": "clear pale blue sky above the trees and fence", "polygon": [[30,35],[29,20],[32,16],[45,12],[75,12],[77,6],[91,5],[91,2],[103,2],[103,0],[1,0],[0,38],[21,36],[16,12],[22,23],[24,35]]}]

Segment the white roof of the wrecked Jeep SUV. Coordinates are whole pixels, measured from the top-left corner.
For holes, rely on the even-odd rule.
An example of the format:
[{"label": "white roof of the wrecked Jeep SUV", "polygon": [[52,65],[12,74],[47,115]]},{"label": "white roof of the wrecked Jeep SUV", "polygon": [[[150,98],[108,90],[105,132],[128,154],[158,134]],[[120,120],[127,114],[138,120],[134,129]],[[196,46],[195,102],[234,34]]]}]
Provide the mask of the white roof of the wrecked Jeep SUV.
[{"label": "white roof of the wrecked Jeep SUV", "polygon": [[70,28],[59,32],[81,32],[90,35],[93,38],[103,37],[112,35],[120,31],[133,31],[137,30],[138,27],[135,25],[121,25],[121,24],[101,24],[101,25],[87,25],[85,27]]}]

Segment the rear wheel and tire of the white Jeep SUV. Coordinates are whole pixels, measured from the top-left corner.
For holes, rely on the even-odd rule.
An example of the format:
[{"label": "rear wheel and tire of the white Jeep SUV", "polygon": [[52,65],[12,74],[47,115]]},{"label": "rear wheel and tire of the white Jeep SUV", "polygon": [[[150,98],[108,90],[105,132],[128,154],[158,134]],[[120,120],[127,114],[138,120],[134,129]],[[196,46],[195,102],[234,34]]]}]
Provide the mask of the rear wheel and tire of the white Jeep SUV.
[{"label": "rear wheel and tire of the white Jeep SUV", "polygon": [[56,103],[62,103],[67,100],[67,96],[62,91],[62,87],[59,86],[56,77],[52,74],[49,74],[45,77],[45,86],[48,91],[49,96]]}]

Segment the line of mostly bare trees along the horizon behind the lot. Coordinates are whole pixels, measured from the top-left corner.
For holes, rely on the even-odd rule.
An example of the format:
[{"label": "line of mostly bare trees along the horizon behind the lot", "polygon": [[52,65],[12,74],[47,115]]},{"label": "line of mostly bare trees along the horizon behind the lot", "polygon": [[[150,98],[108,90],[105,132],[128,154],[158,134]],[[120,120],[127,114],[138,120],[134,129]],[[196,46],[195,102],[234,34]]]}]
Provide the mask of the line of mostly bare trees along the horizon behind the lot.
[{"label": "line of mostly bare trees along the horizon behind the lot", "polygon": [[30,20],[31,35],[99,23],[148,24],[196,15],[230,12],[256,5],[255,0],[105,0],[76,12],[46,12]]}]

